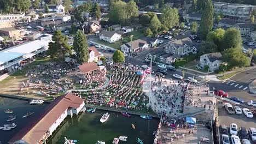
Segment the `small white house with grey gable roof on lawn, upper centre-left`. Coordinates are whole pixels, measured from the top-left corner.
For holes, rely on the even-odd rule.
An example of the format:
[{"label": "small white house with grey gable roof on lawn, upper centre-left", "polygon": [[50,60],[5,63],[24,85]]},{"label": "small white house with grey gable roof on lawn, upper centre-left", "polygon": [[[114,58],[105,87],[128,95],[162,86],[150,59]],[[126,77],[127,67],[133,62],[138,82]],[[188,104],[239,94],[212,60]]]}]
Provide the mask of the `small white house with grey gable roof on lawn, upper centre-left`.
[{"label": "small white house with grey gable roof on lawn, upper centre-left", "polygon": [[114,43],[115,41],[118,41],[121,39],[121,34],[118,34],[117,32],[110,32],[110,31],[101,31],[100,33],[100,40],[107,41],[108,43]]}]

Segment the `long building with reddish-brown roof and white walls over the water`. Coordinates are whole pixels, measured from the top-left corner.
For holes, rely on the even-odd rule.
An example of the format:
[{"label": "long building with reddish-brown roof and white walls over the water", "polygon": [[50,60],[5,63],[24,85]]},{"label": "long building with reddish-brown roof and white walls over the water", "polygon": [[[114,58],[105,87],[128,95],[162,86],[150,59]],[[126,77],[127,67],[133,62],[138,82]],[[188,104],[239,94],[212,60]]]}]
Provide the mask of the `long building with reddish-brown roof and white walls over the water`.
[{"label": "long building with reddish-brown roof and white walls over the water", "polygon": [[42,113],[38,113],[39,118],[28,122],[27,127],[22,128],[8,143],[46,143],[64,119],[68,115],[77,115],[84,105],[84,99],[72,93],[57,97]]}]

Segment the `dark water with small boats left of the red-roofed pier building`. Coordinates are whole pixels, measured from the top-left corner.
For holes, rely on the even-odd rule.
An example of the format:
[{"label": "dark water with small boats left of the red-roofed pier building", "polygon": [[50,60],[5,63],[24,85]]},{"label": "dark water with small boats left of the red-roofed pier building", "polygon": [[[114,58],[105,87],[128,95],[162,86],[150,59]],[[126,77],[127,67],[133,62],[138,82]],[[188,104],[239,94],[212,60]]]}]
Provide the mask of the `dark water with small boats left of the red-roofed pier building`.
[{"label": "dark water with small boats left of the red-roofed pier building", "polygon": [[[48,104],[30,105],[26,100],[0,97],[0,127],[3,127],[4,124],[17,124],[17,127],[14,129],[8,131],[0,130],[0,141],[2,144],[7,143],[11,137],[18,133],[18,131],[27,124],[27,122],[30,122],[32,118],[38,116],[40,111],[42,111],[47,105]],[[17,117],[11,122],[7,122],[10,114],[4,113],[7,109],[13,110],[14,113],[11,115]],[[34,112],[34,114],[29,117],[22,118],[22,116],[26,115],[27,112]]]}]

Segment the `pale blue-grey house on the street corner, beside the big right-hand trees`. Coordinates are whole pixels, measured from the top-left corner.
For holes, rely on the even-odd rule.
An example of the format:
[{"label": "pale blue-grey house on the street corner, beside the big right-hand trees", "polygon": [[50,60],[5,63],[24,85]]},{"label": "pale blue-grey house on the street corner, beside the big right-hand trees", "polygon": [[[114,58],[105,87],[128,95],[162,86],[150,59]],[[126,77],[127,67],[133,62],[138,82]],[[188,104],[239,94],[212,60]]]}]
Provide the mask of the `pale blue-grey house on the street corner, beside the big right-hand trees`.
[{"label": "pale blue-grey house on the street corner, beside the big right-hand trees", "polygon": [[208,65],[210,71],[218,70],[219,65],[223,62],[223,56],[220,52],[206,53],[200,57],[200,66],[205,68]]}]

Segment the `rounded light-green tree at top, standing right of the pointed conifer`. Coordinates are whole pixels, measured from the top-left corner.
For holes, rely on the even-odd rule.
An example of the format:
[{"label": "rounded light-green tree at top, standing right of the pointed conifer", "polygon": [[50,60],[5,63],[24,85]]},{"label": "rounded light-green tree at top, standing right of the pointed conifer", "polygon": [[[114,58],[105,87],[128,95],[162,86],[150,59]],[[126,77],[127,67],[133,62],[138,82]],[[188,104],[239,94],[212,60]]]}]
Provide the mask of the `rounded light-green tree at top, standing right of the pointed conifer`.
[{"label": "rounded light-green tree at top, standing right of the pointed conifer", "polygon": [[161,23],[169,29],[179,24],[178,9],[166,7],[162,10]]}]

